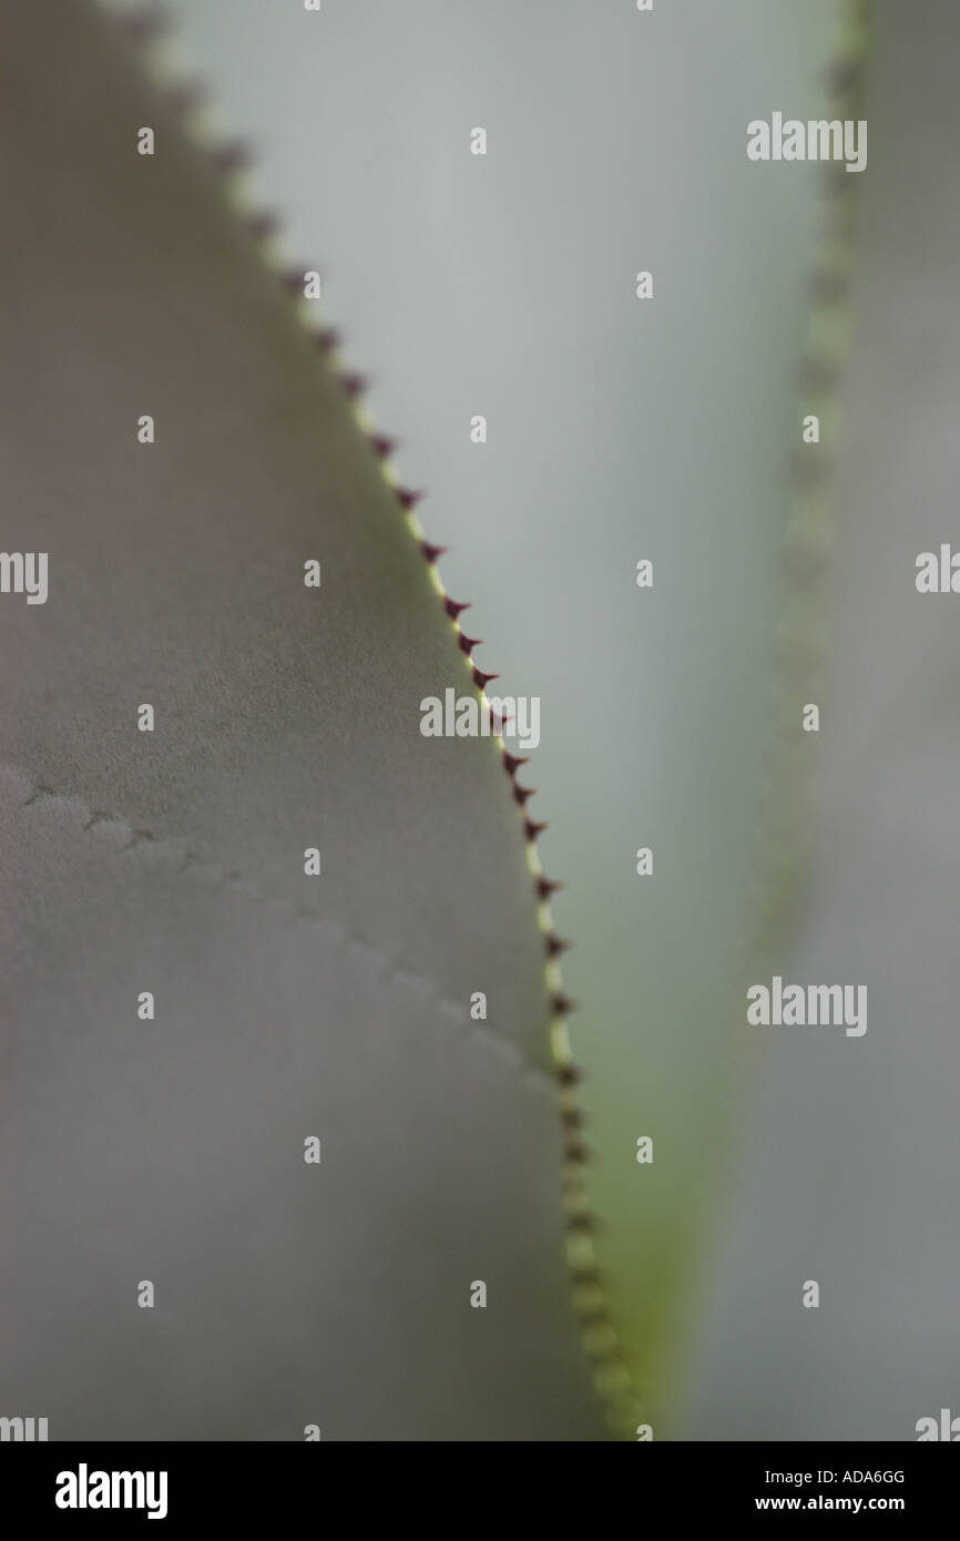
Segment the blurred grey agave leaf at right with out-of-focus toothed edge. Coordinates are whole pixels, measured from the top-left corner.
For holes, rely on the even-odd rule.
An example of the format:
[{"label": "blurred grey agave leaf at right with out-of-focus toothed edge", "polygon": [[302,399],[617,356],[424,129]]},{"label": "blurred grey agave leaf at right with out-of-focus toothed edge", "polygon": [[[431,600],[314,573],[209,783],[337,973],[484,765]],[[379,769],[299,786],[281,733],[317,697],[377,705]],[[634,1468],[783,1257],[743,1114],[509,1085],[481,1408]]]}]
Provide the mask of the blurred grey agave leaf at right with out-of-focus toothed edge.
[{"label": "blurred grey agave leaf at right with out-of-focus toothed edge", "polygon": [[866,985],[868,1026],[780,1034],[693,1438],[909,1441],[957,1410],[960,601],[915,561],[957,549],[960,12],[872,0],[869,28],[812,881],[780,968]]}]

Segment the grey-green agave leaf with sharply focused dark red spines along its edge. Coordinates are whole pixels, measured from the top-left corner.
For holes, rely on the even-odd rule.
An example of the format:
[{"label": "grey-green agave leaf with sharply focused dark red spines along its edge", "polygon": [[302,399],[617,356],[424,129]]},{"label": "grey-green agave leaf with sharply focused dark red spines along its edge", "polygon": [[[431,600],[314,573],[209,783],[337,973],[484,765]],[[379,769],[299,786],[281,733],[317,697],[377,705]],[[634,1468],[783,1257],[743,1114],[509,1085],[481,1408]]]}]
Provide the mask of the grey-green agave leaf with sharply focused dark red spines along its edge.
[{"label": "grey-green agave leaf with sharply focused dark red spines along its edge", "polygon": [[5,1410],[598,1438],[512,783],[419,732],[473,689],[433,569],[114,25],[2,20],[3,541],[49,555],[0,601]]}]

